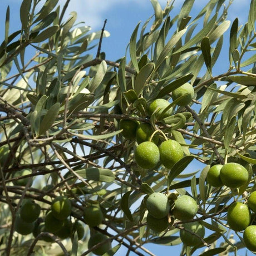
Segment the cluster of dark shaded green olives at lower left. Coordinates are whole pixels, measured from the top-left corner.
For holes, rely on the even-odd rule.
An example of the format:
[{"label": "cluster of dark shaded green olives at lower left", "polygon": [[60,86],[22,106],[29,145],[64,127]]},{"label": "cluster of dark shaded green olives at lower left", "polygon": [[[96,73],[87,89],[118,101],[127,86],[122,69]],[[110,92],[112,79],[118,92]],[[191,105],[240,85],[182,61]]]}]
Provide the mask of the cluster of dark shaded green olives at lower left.
[{"label": "cluster of dark shaded green olives at lower left", "polygon": [[[19,214],[16,216],[14,229],[17,233],[28,235],[33,233],[37,237],[42,232],[56,235],[60,239],[72,238],[75,232],[78,240],[85,236],[85,228],[80,221],[72,223],[70,215],[72,211],[71,201],[66,196],[57,196],[47,210],[45,218],[40,218],[41,206],[30,199],[24,199]],[[83,211],[83,218],[89,227],[96,227],[104,220],[104,214],[97,205],[88,205]],[[54,242],[48,235],[42,235],[41,240]],[[88,249],[94,245],[103,243],[100,247],[93,249],[96,255],[103,255],[111,249],[111,242],[106,235],[92,231],[88,240]]]}]

